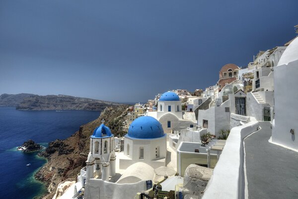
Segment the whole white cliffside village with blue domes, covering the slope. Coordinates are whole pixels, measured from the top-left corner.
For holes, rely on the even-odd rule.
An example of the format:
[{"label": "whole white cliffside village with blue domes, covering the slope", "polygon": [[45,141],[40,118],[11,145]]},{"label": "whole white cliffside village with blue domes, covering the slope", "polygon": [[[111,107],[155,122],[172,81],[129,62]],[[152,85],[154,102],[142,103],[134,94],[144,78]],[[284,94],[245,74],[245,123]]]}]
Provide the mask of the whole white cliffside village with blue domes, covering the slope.
[{"label": "whole white cliffside village with blue domes, covering the slope", "polygon": [[225,64],[214,86],[131,106],[127,134],[102,121],[86,167],[54,198],[298,198],[297,74],[296,37],[245,67]]}]

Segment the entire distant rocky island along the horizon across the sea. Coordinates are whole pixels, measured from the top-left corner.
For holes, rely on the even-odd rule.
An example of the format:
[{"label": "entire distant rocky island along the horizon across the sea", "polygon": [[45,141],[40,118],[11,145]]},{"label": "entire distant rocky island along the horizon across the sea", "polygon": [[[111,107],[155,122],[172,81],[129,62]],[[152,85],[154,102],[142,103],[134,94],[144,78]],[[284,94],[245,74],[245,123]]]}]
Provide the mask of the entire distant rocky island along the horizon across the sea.
[{"label": "entire distant rocky island along the horizon across the sea", "polygon": [[66,95],[38,96],[34,94],[2,94],[0,106],[13,106],[18,110],[93,110],[101,111],[106,106],[119,103],[93,100]]}]

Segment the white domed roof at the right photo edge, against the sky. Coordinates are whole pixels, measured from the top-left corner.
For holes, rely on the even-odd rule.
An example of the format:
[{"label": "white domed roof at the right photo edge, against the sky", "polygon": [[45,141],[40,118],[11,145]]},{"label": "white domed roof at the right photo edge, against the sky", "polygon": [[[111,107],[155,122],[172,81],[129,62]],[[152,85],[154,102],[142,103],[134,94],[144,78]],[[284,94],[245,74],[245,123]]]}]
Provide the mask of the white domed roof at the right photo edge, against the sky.
[{"label": "white domed roof at the right photo edge, against the sky", "polygon": [[298,60],[298,37],[294,39],[286,48],[285,52],[278,62],[278,66],[289,64],[290,62],[296,60]]}]

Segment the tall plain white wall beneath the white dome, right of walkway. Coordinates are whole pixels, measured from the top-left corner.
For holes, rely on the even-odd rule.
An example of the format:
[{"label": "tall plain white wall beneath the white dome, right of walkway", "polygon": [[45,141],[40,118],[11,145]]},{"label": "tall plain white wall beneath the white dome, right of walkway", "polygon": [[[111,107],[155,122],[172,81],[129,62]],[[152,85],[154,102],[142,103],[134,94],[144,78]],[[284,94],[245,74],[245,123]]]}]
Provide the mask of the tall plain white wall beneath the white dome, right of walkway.
[{"label": "tall plain white wall beneath the white dome, right of walkway", "polygon": [[[298,60],[274,67],[275,119],[272,142],[298,150]],[[294,129],[292,135],[290,130]]]}]

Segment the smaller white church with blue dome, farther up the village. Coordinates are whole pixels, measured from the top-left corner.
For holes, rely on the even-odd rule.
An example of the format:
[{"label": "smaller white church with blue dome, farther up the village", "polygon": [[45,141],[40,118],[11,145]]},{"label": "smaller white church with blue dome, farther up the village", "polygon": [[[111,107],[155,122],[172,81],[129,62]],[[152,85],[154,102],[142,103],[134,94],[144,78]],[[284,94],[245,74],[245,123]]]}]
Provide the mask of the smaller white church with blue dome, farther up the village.
[{"label": "smaller white church with blue dome, farther up the village", "polygon": [[147,113],[162,125],[165,133],[196,127],[194,112],[182,112],[181,100],[174,92],[165,92],[157,102],[157,111]]}]

